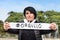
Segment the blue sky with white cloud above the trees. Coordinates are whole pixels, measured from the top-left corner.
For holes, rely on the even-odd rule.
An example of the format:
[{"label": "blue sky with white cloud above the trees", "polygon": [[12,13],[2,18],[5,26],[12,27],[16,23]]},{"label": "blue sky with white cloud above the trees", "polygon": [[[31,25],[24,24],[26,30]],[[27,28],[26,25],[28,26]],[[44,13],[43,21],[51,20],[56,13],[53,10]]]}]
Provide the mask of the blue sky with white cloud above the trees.
[{"label": "blue sky with white cloud above the trees", "polygon": [[10,11],[23,12],[28,6],[34,7],[37,11],[60,12],[60,0],[0,0],[0,20],[5,21]]}]

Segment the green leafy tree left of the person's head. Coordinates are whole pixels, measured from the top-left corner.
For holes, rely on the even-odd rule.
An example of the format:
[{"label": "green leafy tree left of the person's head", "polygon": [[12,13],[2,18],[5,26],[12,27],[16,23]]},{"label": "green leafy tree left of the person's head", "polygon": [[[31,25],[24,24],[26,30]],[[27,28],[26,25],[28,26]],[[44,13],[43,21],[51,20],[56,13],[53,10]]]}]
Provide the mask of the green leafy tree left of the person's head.
[{"label": "green leafy tree left of the person's head", "polygon": [[10,16],[6,19],[6,21],[8,22],[17,22],[17,21],[21,21],[23,20],[23,15],[22,13],[18,13],[18,12],[9,12],[8,13]]}]

